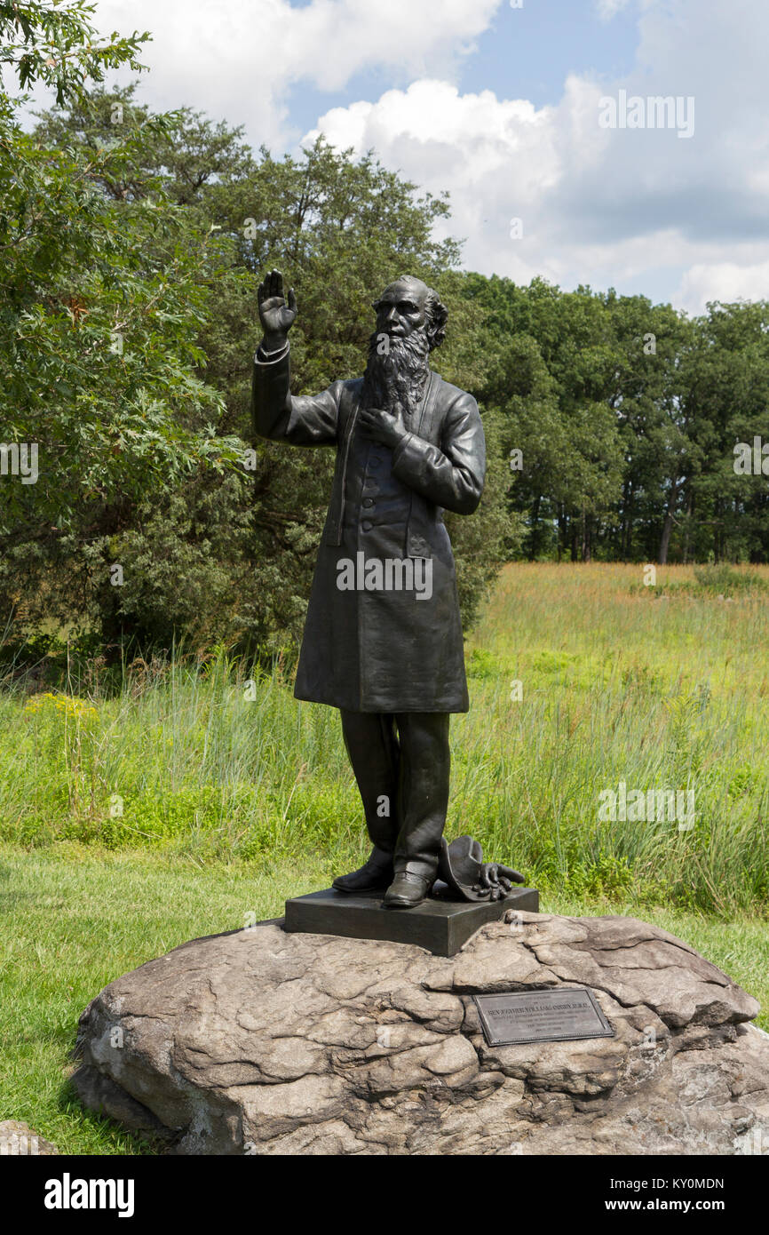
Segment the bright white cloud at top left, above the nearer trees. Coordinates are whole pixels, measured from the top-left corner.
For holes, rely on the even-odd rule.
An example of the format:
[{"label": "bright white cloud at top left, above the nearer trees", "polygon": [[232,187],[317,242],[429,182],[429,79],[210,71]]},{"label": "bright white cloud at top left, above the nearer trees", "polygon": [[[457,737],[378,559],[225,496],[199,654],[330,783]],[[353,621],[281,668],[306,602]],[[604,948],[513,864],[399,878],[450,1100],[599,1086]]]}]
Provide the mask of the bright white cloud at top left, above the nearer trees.
[{"label": "bright white cloud at top left, above the nearer trees", "polygon": [[[395,82],[458,61],[489,26],[501,0],[99,0],[102,31],[149,30],[143,96],[158,107],[188,104],[244,124],[252,141],[280,147],[286,93],[296,83],[339,90],[355,74],[385,70]],[[125,74],[123,74],[125,78]]]}]

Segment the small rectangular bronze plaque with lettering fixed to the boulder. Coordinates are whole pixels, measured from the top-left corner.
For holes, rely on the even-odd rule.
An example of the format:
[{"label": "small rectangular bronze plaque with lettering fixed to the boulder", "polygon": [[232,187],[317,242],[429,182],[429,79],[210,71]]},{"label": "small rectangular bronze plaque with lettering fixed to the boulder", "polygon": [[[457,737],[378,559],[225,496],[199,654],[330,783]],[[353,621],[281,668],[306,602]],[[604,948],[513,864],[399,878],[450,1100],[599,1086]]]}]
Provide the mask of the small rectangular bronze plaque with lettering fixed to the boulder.
[{"label": "small rectangular bronze plaque with lettering fixed to the boulder", "polygon": [[489,1046],[615,1036],[591,990],[559,987],[473,998]]}]

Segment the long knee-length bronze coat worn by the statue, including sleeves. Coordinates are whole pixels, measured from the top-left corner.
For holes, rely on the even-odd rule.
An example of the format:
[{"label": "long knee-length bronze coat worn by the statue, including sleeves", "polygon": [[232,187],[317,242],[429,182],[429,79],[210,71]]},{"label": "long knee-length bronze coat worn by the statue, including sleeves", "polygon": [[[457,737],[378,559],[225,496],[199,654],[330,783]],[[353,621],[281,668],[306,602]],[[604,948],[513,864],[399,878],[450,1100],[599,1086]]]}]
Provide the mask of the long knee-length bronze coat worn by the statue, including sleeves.
[{"label": "long knee-length bronze coat worn by the statue, including sleeves", "polygon": [[[409,432],[390,450],[358,425],[362,387],[358,378],[291,396],[288,346],[254,357],[256,432],[337,452],[294,694],[349,711],[467,711],[454,558],[442,511],[469,515],[480,501],[485,441],[478,405],[431,372],[406,420]],[[359,567],[372,559],[410,559],[415,587],[341,590],[344,563],[358,568],[359,584]]]}]

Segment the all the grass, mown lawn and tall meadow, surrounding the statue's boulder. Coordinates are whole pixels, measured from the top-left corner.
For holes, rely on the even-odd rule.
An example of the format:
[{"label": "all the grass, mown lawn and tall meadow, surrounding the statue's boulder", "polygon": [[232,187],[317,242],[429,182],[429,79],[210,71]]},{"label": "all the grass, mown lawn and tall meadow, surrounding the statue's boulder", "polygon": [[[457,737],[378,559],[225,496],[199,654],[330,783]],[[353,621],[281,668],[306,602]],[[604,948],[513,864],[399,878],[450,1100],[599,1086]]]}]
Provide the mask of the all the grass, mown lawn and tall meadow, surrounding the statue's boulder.
[{"label": "all the grass, mown lawn and tall meadow, surrounding the statue's boulder", "polygon": [[[522,869],[547,910],[671,930],[767,1005],[769,572],[744,574],[762,587],[507,567],[468,640],[447,832]],[[294,700],[290,676],[290,657],[265,673],[220,653],[137,663],[118,689],[91,669],[0,690],[0,1119],[141,1152],[68,1094],[88,1000],[367,852],[337,714]],[[694,790],[694,826],[601,819],[621,782]]]}]

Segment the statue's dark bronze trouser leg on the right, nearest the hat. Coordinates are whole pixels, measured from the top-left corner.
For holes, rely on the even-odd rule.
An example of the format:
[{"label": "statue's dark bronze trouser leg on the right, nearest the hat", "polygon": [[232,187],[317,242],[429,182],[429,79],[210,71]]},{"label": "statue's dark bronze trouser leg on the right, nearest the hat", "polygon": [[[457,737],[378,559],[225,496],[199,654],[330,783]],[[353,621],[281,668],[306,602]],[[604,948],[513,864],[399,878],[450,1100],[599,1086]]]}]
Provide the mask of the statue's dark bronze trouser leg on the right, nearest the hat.
[{"label": "statue's dark bronze trouser leg on the right, nearest the hat", "polygon": [[400,821],[395,871],[434,879],[448,809],[448,713],[406,711],[400,737]]}]

